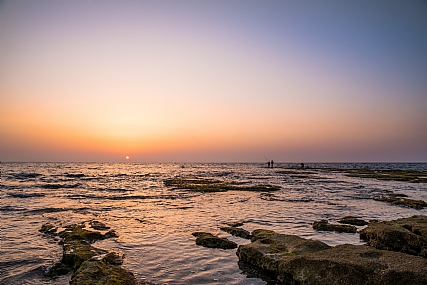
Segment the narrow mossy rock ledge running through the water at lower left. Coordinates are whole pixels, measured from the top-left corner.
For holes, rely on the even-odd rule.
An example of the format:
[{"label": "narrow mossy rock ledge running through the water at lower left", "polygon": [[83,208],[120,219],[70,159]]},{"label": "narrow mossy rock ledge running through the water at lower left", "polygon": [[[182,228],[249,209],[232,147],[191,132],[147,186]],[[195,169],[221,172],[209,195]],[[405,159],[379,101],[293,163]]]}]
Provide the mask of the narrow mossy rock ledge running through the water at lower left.
[{"label": "narrow mossy rock ledge running through the water at lower left", "polygon": [[[109,229],[99,222],[91,224],[92,227]],[[73,271],[70,285],[145,284],[138,282],[131,272],[120,266],[123,256],[92,246],[92,243],[97,240],[117,237],[114,230],[102,234],[99,231],[86,230],[85,224],[72,224],[56,233],[57,228],[47,223],[39,231],[49,237],[59,236],[63,247],[62,259],[46,271],[46,276],[55,278]]]}]

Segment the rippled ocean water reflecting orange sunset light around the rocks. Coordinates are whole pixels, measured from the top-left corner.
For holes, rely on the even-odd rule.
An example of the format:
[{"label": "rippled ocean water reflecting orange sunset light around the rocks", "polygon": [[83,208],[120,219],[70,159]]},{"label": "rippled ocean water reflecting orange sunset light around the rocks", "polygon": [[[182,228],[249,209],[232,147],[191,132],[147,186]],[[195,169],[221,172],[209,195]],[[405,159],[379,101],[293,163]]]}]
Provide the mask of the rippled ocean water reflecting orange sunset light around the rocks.
[{"label": "rippled ocean water reflecting orange sunset light around the rocks", "polygon": [[[71,274],[51,280],[44,270],[58,261],[58,239],[38,232],[57,226],[97,220],[119,237],[95,247],[124,253],[123,267],[151,284],[267,284],[238,266],[236,250],[209,249],[191,235],[206,231],[238,244],[219,228],[244,222],[242,228],[270,229],[321,240],[330,245],[362,244],[358,234],[316,232],[315,220],[354,215],[389,220],[427,214],[372,200],[390,191],[427,201],[426,183],[347,177],[314,169],[340,167],[427,170],[427,163],[310,164],[137,164],[137,163],[2,163],[0,284],[68,284]],[[195,193],[165,187],[174,177],[200,177],[281,190]],[[361,227],[359,227],[361,228]]]}]

